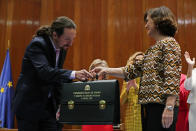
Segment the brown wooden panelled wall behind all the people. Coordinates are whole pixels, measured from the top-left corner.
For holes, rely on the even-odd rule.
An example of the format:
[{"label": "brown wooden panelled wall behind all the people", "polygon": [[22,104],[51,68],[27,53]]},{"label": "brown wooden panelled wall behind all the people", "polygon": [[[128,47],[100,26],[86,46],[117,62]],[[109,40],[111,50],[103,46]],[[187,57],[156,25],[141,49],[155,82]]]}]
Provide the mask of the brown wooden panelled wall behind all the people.
[{"label": "brown wooden panelled wall behind all the people", "polygon": [[77,37],[64,68],[88,70],[95,58],[107,60],[111,67],[124,66],[131,54],[154,44],[146,34],[143,15],[161,5],[168,6],[177,17],[175,37],[182,48],[186,73],[184,51],[196,56],[195,0],[0,0],[0,70],[10,40],[15,85],[24,51],[36,29],[62,15],[77,24]]}]

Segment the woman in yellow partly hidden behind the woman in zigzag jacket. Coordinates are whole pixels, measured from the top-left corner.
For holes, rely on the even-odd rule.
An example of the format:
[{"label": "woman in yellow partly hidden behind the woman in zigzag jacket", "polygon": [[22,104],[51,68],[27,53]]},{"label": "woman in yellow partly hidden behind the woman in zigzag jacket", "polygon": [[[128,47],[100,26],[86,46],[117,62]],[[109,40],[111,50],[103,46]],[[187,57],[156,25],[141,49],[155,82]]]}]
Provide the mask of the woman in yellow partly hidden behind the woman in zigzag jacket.
[{"label": "woman in yellow partly hidden behind the woman in zigzag jacket", "polygon": [[[127,65],[143,57],[143,52],[136,52],[129,57]],[[125,131],[142,131],[141,105],[138,104],[139,81],[140,78],[136,78],[123,82],[120,100],[125,108]]]}]

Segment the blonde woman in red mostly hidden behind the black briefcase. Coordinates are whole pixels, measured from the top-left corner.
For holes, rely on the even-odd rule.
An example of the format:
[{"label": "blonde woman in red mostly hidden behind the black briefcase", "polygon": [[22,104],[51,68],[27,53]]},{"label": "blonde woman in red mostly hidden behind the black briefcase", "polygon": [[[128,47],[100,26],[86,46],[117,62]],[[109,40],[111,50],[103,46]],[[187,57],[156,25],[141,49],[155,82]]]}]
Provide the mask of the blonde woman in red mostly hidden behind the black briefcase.
[{"label": "blonde woman in red mostly hidden behind the black briefcase", "polygon": [[[105,60],[95,59],[89,66],[89,71],[92,71],[95,67],[107,67],[108,64]],[[106,74],[99,75],[98,80],[107,80],[108,76]],[[83,125],[82,131],[113,131],[112,125]]]}]

